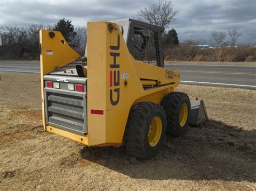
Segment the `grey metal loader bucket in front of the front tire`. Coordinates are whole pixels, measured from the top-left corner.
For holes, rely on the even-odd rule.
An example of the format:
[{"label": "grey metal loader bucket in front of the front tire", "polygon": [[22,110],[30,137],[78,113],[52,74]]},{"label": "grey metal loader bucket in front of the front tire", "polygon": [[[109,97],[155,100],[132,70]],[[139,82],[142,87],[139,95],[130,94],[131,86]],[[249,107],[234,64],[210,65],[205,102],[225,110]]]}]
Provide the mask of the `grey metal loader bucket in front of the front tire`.
[{"label": "grey metal loader bucket in front of the front tire", "polygon": [[190,100],[190,104],[190,125],[198,126],[201,123],[209,120],[203,100]]}]

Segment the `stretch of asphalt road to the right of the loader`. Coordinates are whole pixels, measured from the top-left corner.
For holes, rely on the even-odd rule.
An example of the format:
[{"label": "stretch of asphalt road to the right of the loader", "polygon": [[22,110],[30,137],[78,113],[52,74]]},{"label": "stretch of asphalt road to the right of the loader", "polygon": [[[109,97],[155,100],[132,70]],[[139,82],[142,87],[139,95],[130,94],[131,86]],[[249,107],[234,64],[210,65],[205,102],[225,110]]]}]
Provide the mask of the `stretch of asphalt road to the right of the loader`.
[{"label": "stretch of asphalt road to the right of the loader", "polygon": [[179,69],[180,81],[256,89],[256,66],[165,65]]}]

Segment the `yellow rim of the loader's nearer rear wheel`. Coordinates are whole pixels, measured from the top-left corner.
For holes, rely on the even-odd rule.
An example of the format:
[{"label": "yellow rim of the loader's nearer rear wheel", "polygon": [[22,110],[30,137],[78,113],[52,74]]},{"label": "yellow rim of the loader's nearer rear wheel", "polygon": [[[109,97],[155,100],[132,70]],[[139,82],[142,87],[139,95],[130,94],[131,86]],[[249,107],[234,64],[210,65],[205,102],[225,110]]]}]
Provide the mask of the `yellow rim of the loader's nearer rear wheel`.
[{"label": "yellow rim of the loader's nearer rear wheel", "polygon": [[163,124],[160,117],[154,117],[149,126],[149,133],[147,138],[149,139],[150,146],[156,146],[161,138]]}]

